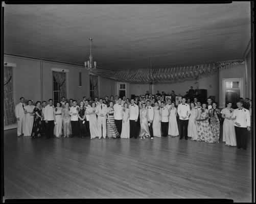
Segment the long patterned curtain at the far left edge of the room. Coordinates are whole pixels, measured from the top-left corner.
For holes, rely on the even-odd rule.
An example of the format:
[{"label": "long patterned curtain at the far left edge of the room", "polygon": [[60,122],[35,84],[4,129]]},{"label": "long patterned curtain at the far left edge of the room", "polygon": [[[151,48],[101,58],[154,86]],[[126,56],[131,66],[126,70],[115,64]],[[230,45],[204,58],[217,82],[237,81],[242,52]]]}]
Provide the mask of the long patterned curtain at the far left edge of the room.
[{"label": "long patterned curtain at the far left edge of the room", "polygon": [[12,88],[12,67],[4,66],[4,123],[16,123]]}]

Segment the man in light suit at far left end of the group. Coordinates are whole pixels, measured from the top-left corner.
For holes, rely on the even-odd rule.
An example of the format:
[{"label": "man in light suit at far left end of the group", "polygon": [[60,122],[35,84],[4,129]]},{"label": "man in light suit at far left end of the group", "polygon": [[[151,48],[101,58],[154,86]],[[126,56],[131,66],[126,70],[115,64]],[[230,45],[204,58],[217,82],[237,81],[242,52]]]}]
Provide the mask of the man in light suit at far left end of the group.
[{"label": "man in light suit at far left end of the group", "polygon": [[25,130],[25,113],[24,113],[25,98],[20,97],[19,100],[20,100],[20,103],[18,103],[15,106],[15,116],[17,119],[17,136],[18,137],[23,135]]}]

